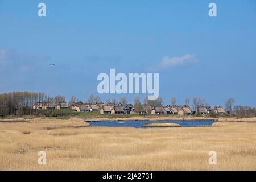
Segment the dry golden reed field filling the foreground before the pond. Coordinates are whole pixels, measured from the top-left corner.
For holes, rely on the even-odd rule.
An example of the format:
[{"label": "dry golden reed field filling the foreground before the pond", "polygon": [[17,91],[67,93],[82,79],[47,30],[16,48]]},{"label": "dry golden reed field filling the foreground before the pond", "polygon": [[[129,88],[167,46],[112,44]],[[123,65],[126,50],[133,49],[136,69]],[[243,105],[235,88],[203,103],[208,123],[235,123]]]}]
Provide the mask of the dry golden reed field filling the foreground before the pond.
[{"label": "dry golden reed field filling the foreground before the pond", "polygon": [[[0,170],[255,170],[256,123],[86,127],[79,119],[0,122]],[[38,152],[46,151],[46,165]],[[217,152],[217,165],[208,163]]]}]

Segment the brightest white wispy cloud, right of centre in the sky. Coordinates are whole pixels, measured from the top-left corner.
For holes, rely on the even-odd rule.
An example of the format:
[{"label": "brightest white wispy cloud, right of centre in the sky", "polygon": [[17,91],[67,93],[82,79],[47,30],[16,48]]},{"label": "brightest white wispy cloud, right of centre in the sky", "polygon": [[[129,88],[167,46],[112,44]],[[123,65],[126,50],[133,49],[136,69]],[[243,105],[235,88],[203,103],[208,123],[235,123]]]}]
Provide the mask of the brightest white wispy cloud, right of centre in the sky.
[{"label": "brightest white wispy cloud, right of centre in the sky", "polygon": [[186,54],[180,57],[164,56],[159,64],[148,67],[148,69],[151,71],[160,71],[163,69],[170,69],[177,66],[192,64],[196,62],[197,62],[197,57],[191,54]]}]

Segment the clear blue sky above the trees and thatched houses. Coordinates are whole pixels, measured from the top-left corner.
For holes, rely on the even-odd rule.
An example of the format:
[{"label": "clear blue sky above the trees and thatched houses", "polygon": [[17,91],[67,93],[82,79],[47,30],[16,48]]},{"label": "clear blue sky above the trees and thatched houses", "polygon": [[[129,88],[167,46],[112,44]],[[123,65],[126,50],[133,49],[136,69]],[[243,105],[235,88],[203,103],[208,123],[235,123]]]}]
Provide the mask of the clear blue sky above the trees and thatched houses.
[{"label": "clear blue sky above the trees and thatched houses", "polygon": [[[46,17],[37,15],[40,2]],[[210,2],[217,17],[208,16]],[[234,97],[237,105],[255,106],[255,22],[253,0],[0,0],[0,93],[27,90],[85,101],[98,94],[97,75],[115,68],[159,73],[164,104],[171,97],[177,104],[201,97],[214,106]]]}]

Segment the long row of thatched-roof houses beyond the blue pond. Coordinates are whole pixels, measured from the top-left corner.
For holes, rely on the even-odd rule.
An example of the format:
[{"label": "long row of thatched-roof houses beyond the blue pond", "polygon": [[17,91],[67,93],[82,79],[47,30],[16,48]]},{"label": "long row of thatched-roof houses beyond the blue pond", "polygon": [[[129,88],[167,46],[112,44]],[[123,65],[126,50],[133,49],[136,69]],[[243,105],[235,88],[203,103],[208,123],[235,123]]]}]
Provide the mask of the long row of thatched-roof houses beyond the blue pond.
[{"label": "long row of thatched-roof houses beyond the blue pond", "polygon": [[177,115],[195,115],[195,114],[224,114],[225,110],[221,106],[216,107],[197,107],[195,111],[192,111],[191,107],[186,105],[181,106],[149,106],[137,104],[133,106],[132,104],[126,104],[123,106],[121,103],[113,104],[108,103],[83,103],[83,102],[74,102],[71,106],[68,106],[66,102],[60,102],[56,106],[51,102],[36,102],[32,109],[34,110],[53,110],[53,109],[71,109],[76,112],[94,112],[100,111],[100,114],[177,114]]}]

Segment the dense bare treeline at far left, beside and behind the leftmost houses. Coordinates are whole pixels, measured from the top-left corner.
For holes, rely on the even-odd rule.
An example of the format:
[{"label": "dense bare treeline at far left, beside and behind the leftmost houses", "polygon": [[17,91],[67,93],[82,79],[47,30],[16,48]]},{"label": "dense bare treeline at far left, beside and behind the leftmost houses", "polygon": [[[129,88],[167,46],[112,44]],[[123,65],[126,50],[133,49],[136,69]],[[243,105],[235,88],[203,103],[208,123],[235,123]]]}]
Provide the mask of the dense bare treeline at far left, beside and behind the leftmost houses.
[{"label": "dense bare treeline at far left, beside and behind the leftmost houses", "polygon": [[35,102],[52,102],[58,104],[65,101],[65,96],[49,97],[39,92],[12,92],[0,94],[0,116],[32,114]]}]

